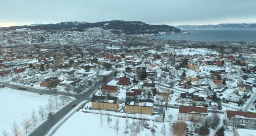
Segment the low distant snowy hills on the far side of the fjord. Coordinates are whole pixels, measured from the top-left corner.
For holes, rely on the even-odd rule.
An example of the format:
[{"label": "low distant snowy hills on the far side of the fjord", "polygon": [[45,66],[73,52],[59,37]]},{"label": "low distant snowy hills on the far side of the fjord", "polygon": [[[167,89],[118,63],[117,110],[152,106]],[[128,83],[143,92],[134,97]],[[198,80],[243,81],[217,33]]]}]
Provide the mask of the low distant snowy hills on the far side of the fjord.
[{"label": "low distant snowy hills on the far side of the fjord", "polygon": [[221,23],[219,25],[181,25],[175,27],[177,27],[178,29],[256,28],[256,23]]}]

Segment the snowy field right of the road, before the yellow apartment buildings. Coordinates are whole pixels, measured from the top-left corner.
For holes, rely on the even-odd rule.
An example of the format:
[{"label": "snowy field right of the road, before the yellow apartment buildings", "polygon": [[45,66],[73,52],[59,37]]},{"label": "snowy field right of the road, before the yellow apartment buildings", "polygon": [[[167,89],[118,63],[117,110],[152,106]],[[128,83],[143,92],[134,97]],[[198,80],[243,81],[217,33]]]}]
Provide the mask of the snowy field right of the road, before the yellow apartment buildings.
[{"label": "snowy field right of the road, before the yellow apartment buildings", "polygon": [[[178,109],[173,109],[172,113],[177,113]],[[84,113],[83,111],[91,111],[94,113]],[[102,113],[98,114],[98,113]],[[111,116],[105,115],[111,114]],[[124,117],[116,117],[124,116]],[[128,120],[128,134],[124,134],[126,131],[126,116]],[[108,124],[108,117],[112,119]],[[147,121],[144,121],[144,124],[148,124],[147,128],[144,125],[139,125],[140,121],[136,118],[147,118]],[[169,123],[166,121],[164,123],[153,121],[157,115],[141,115],[141,114],[126,114],[126,113],[115,113],[113,111],[99,111],[99,110],[80,110],[71,116],[61,127],[55,132],[54,136],[65,136],[65,135],[76,135],[76,136],[89,136],[89,135],[132,135],[136,131],[136,127],[140,128],[140,132],[137,132],[137,135],[152,135],[151,128],[154,128],[155,135],[164,135],[161,133],[161,128],[165,125],[165,135],[170,135],[171,131],[169,130]],[[102,121],[101,121],[102,118]],[[116,120],[119,120],[119,131],[117,134],[116,131]],[[177,114],[174,114],[174,119],[177,120]],[[102,125],[101,125],[102,122]],[[154,127],[153,127],[154,126]]]}]

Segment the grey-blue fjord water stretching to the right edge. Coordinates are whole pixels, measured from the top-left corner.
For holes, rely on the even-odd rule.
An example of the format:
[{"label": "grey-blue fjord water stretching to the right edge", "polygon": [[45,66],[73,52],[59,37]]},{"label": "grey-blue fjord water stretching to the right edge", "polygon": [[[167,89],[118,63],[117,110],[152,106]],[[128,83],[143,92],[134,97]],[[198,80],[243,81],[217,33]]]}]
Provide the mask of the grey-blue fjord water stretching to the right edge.
[{"label": "grey-blue fjord water stretching to the right edge", "polygon": [[190,34],[152,36],[157,39],[191,41],[256,42],[256,28],[244,29],[181,29]]}]

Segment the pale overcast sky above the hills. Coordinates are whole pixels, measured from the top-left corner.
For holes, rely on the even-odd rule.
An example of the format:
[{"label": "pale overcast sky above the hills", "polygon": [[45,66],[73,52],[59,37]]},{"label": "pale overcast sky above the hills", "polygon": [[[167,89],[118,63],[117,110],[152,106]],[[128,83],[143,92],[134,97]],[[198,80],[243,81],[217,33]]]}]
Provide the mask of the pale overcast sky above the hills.
[{"label": "pale overcast sky above the hills", "polygon": [[256,23],[256,0],[0,0],[0,26],[140,20],[149,24]]}]

